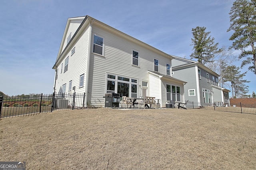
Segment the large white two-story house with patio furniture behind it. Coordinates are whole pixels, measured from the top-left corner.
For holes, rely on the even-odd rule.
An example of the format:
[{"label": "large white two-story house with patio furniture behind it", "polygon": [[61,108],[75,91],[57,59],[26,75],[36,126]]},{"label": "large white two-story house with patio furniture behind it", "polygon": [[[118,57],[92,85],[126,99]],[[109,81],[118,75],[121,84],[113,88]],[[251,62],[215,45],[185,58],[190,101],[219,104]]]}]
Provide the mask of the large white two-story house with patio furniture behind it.
[{"label": "large white two-story house with patio furniture behind it", "polygon": [[[172,77],[172,57],[90,16],[68,18],[55,70],[55,93],[85,93],[104,107],[106,93],[184,103],[186,81]],[[73,88],[74,87],[74,88]]]}]

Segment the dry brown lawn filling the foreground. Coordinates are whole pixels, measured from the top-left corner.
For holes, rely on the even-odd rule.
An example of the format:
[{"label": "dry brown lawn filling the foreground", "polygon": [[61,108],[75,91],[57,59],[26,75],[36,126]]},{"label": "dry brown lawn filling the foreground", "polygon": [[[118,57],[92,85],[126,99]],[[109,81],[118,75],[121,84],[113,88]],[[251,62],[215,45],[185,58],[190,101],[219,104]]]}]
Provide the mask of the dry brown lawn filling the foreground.
[{"label": "dry brown lawn filling the foreground", "polygon": [[0,161],[26,169],[256,169],[256,115],[82,109],[0,121]]}]

